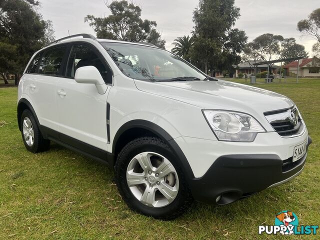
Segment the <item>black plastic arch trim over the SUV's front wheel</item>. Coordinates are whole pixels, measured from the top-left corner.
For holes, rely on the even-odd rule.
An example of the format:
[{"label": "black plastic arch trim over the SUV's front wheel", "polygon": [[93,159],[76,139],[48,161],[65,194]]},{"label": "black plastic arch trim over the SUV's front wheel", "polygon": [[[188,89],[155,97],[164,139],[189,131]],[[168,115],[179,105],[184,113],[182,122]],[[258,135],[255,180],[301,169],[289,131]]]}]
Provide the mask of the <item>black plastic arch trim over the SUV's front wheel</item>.
[{"label": "black plastic arch trim over the SUV's front wheel", "polygon": [[188,160],[186,159],[183,151],[176,143],[176,141],[173,139],[173,137],[162,127],[148,120],[135,119],[124,123],[114,135],[112,141],[112,153],[115,152],[115,146],[121,134],[131,128],[143,128],[157,135],[161,140],[163,140],[165,143],[169,145],[173,153],[177,156],[177,159],[180,161],[181,168],[186,174],[186,180],[189,181],[194,178],[194,174]]}]

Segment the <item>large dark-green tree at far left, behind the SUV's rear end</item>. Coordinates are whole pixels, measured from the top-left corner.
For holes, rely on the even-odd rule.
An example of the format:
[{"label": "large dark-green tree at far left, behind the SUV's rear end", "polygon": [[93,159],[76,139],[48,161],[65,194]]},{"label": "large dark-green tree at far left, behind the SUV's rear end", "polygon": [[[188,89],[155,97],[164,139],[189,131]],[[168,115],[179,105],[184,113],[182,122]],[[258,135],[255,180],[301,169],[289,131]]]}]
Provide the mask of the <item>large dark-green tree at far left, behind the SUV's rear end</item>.
[{"label": "large dark-green tree at far left, behind the SUV's rear end", "polygon": [[[35,0],[0,1],[0,42],[14,45],[17,52],[14,67],[5,71],[15,73],[16,84],[31,55],[54,39],[52,23],[42,19],[38,5]],[[1,54],[9,53],[2,48]]]}]

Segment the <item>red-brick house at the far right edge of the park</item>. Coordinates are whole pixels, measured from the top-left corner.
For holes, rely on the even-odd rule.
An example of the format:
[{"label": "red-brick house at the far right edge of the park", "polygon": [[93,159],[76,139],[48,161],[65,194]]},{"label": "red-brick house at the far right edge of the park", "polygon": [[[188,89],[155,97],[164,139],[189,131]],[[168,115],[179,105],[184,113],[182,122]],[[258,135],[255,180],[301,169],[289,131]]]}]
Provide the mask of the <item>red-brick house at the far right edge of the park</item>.
[{"label": "red-brick house at the far right edge of the park", "polygon": [[291,61],[283,66],[285,69],[284,74],[296,77],[297,66],[299,64],[298,76],[299,77],[320,77],[320,66],[312,64],[312,58],[303,58],[298,61]]}]

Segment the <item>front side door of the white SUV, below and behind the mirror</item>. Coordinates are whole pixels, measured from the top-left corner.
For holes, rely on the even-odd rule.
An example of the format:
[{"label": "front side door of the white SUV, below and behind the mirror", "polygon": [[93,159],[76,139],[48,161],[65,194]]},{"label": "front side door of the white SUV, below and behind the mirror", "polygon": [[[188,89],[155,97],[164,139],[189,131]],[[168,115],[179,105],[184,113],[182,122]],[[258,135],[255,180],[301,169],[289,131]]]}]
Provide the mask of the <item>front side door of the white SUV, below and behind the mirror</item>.
[{"label": "front side door of the white SUV, below and behind the mirror", "polygon": [[[95,66],[107,83],[104,94],[99,94],[94,84],[77,83],[74,80],[76,69],[88,65]],[[62,141],[72,141],[69,144],[76,144],[77,147],[87,143],[106,150],[106,100],[111,83],[112,73],[98,50],[85,43],[72,44],[65,77],[59,78],[56,85]]]}]

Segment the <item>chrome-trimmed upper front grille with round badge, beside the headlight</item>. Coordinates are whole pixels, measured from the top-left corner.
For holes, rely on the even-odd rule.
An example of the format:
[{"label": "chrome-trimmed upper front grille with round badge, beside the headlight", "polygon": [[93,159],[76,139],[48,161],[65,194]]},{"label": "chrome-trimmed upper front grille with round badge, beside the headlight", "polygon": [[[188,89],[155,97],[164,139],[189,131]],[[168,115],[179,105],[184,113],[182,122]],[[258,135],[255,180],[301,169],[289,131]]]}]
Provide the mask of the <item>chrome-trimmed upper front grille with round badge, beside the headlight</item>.
[{"label": "chrome-trimmed upper front grille with round badge, beside the headlight", "polygon": [[296,107],[278,111],[264,112],[266,119],[273,129],[283,137],[299,134],[303,128],[303,122]]}]

